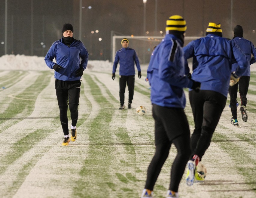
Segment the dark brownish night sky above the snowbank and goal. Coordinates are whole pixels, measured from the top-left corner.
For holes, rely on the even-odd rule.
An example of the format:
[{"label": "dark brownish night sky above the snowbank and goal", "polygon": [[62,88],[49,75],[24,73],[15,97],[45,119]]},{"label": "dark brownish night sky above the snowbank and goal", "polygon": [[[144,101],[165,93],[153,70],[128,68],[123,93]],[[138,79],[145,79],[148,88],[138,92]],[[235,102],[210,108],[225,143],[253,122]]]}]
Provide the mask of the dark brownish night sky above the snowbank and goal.
[{"label": "dark brownish night sky above the snowbank and goal", "polygon": [[[74,38],[79,39],[79,0],[7,0],[8,33],[7,54],[44,56],[50,45],[61,38],[63,23],[72,23]],[[31,2],[33,2],[33,30],[31,30]],[[155,2],[146,3],[146,31],[150,36],[161,36],[165,31],[169,16],[179,14],[187,21],[186,36],[204,36],[208,22],[221,23],[223,36],[231,38],[233,27],[237,24],[244,29],[244,38],[256,45],[256,0],[157,0],[157,33],[155,33]],[[231,2],[233,15],[231,21]],[[111,31],[125,35],[143,34],[142,0],[83,0],[82,41],[88,51],[93,52],[91,59],[110,59]],[[88,6],[92,9],[88,9]],[[5,0],[0,1],[0,42],[5,40]],[[91,35],[99,29],[102,42]],[[33,36],[31,36],[33,32]],[[163,34],[162,34],[163,36]],[[33,40],[33,42],[31,42]],[[41,48],[40,43],[46,45]],[[33,45],[32,45],[33,44]],[[33,46],[33,47],[32,47]],[[32,49],[32,50],[31,50]],[[102,52],[102,56],[99,56]],[[4,45],[0,45],[0,56]]]}]

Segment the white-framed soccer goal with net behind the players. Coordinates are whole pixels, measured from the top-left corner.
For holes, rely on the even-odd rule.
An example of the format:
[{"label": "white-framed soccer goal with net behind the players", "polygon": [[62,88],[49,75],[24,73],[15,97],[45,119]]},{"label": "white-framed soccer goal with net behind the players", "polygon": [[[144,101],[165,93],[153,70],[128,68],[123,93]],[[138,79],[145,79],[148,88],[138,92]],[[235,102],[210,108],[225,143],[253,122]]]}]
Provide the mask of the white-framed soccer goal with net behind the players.
[{"label": "white-framed soccer goal with net behind the players", "polygon": [[[111,43],[111,62],[115,60],[116,51],[122,48],[121,41],[123,38],[129,40],[129,47],[133,48],[141,64],[149,63],[153,48],[157,46],[164,36],[112,36]],[[185,36],[184,46],[192,40],[199,39],[199,36]]]}]

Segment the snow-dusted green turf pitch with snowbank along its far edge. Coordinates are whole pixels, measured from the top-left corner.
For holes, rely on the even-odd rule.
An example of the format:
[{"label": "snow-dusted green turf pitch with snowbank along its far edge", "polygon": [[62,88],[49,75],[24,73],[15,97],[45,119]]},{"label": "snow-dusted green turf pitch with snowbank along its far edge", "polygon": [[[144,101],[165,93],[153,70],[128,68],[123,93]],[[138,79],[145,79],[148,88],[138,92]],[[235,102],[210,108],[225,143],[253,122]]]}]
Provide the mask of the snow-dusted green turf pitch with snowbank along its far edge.
[{"label": "snow-dusted green turf pitch with snowbank along its far edge", "polygon": [[[0,57],[0,197],[139,197],[154,155],[154,119],[150,89],[136,76],[133,108],[118,110],[119,81],[112,63],[90,61],[79,104],[78,139],[63,147],[53,70],[44,57]],[[224,109],[212,143],[202,159],[206,181],[187,187],[180,197],[256,197],[256,65],[251,66],[248,122],[230,124]],[[185,89],[187,95],[187,89]],[[126,90],[125,105],[127,105]],[[136,115],[136,107],[147,109]],[[185,108],[194,129],[187,97]],[[164,197],[176,149],[173,146],[154,188]],[[255,175],[254,175],[255,173]]]}]

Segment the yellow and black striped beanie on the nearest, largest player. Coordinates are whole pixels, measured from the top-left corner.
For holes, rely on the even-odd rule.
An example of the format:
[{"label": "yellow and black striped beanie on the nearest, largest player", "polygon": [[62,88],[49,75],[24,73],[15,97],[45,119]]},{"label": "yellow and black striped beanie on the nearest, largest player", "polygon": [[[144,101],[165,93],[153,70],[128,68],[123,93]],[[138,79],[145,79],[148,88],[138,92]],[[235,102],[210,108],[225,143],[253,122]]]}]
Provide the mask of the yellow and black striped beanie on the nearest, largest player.
[{"label": "yellow and black striped beanie on the nearest, largest player", "polygon": [[179,15],[173,15],[166,21],[166,31],[179,31],[185,32],[187,29],[187,23],[183,17]]}]

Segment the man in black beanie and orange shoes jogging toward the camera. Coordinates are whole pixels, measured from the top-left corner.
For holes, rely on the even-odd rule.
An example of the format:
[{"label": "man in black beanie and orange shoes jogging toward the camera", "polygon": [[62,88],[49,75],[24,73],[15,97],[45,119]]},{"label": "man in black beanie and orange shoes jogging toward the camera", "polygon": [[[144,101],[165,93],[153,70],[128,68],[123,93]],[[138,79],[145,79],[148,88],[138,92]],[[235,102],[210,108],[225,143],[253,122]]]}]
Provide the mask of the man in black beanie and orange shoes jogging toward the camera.
[{"label": "man in black beanie and orange shoes jogging toward the camera", "polygon": [[[65,23],[62,27],[62,38],[53,42],[44,58],[46,65],[55,70],[55,89],[60,122],[64,133],[63,146],[69,145],[70,142],[68,107],[72,120],[71,141],[75,141],[77,138],[76,124],[78,120],[80,79],[88,62],[88,51],[81,41],[73,38],[73,32],[73,26]],[[53,62],[54,58],[56,63]]]}]

